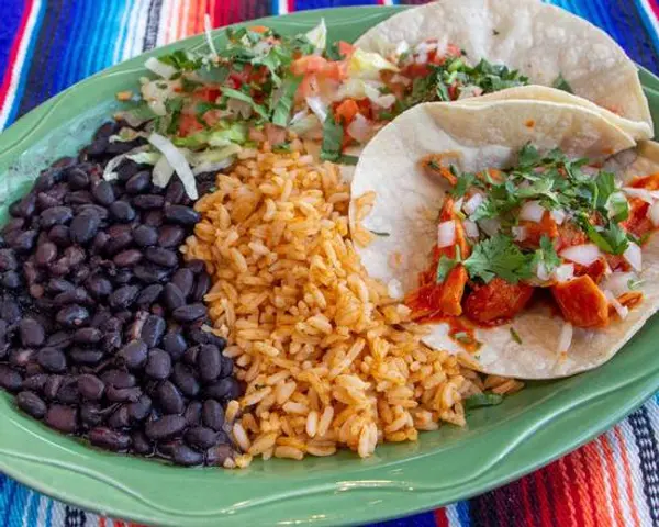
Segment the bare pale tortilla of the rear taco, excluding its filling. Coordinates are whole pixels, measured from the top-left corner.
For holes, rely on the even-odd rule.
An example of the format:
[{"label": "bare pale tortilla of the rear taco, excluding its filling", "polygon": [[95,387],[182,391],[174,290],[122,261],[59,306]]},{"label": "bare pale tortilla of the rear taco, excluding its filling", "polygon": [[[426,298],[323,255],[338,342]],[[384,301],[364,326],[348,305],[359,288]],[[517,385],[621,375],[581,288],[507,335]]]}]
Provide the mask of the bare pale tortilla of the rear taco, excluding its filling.
[{"label": "bare pale tortilla of the rear taco, excluding its filling", "polygon": [[602,30],[560,8],[539,0],[438,0],[391,16],[356,45],[387,54],[401,41],[427,38],[460,46],[472,64],[485,58],[518,69],[534,85],[552,86],[562,75],[574,94],[646,123],[651,133],[634,63]]}]

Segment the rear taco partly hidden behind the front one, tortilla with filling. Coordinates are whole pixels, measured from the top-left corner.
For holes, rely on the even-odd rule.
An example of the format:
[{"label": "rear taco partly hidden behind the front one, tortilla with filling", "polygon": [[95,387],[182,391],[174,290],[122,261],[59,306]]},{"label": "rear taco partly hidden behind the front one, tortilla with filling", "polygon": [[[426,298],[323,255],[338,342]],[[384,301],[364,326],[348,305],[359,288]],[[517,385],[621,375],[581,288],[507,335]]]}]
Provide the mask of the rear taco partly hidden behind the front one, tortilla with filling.
[{"label": "rear taco partly hidden behind the front one, tortilla with filling", "polygon": [[641,123],[632,130],[636,138],[652,135],[638,71],[625,52],[590,22],[539,0],[439,0],[391,16],[356,45],[398,66],[388,80],[402,106],[540,85]]}]

